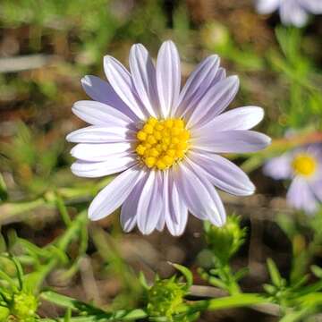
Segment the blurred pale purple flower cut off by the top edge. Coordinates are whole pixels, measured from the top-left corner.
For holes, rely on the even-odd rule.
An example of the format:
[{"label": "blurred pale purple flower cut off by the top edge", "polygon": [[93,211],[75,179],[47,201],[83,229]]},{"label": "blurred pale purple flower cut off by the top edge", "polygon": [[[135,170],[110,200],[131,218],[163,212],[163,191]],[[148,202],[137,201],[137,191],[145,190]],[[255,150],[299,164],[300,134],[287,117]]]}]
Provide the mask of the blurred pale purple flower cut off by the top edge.
[{"label": "blurred pale purple flower cut off by the top edge", "polygon": [[285,25],[303,27],[309,19],[309,13],[322,13],[321,0],[257,0],[258,13],[267,14],[279,10],[281,21]]}]

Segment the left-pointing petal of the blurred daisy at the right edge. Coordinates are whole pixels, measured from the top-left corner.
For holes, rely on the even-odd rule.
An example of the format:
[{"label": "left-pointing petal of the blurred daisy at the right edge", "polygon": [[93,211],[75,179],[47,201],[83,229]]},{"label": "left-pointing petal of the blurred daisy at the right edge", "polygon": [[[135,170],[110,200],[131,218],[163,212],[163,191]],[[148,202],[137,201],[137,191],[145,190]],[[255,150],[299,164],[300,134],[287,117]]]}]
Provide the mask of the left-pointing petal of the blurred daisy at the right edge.
[{"label": "left-pointing petal of the blurred daisy at the right edge", "polygon": [[263,167],[263,172],[275,180],[292,177],[292,154],[285,153],[280,157],[269,159]]}]

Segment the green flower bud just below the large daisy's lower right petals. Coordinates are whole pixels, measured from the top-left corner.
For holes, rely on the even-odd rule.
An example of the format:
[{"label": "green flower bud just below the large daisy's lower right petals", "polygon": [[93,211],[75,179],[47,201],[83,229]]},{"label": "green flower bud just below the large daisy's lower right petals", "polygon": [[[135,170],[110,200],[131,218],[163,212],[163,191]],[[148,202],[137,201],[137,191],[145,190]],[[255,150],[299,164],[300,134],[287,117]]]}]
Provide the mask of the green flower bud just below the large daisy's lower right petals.
[{"label": "green flower bud just below the large daisy's lower right petals", "polygon": [[244,242],[246,229],[241,228],[240,224],[241,218],[239,216],[228,216],[223,227],[216,227],[208,222],[204,225],[209,249],[223,264],[232,258]]}]

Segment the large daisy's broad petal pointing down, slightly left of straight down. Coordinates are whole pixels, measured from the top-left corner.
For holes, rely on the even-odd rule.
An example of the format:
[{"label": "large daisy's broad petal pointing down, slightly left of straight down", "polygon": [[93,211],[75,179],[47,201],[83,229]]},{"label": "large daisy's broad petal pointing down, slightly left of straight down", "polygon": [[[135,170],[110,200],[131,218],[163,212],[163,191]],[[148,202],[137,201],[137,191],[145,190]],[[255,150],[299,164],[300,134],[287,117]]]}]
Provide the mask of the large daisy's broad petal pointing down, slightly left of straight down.
[{"label": "large daisy's broad petal pointing down, slightly left of straight down", "polygon": [[162,181],[157,171],[150,171],[140,195],[137,222],[140,232],[152,233],[162,212]]}]

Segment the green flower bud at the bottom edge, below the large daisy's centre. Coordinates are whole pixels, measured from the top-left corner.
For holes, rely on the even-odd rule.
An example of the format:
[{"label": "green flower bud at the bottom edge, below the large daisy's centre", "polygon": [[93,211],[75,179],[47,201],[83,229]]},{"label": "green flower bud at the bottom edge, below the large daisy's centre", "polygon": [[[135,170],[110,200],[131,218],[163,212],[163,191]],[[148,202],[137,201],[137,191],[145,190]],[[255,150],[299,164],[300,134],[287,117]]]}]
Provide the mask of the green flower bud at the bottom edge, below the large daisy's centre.
[{"label": "green flower bud at the bottom edge, below the large daisy's centre", "polygon": [[160,280],[148,290],[148,314],[150,317],[166,317],[173,321],[173,316],[183,303],[186,284],[180,284],[175,278]]}]

